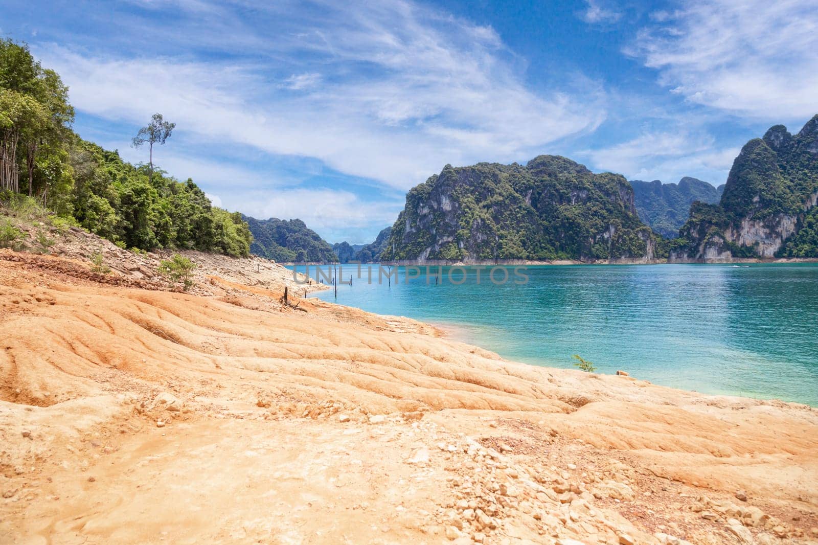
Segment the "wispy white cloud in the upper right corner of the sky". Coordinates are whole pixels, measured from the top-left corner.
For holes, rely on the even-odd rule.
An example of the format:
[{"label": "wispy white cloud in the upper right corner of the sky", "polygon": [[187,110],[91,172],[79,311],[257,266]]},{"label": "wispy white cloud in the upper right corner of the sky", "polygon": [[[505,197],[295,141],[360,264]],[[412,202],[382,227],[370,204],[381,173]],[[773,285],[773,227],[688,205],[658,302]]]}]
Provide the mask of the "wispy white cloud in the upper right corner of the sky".
[{"label": "wispy white cloud in the upper right corner of the sky", "polygon": [[759,119],[818,111],[814,0],[693,0],[653,19],[627,52],[687,100]]}]

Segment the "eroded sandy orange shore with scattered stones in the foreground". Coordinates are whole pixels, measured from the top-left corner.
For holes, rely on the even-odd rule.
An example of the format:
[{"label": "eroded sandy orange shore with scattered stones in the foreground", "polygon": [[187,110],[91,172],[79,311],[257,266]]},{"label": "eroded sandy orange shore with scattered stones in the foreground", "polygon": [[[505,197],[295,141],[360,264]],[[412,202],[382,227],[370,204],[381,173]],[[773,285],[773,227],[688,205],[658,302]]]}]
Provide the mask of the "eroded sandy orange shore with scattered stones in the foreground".
[{"label": "eroded sandy orange shore with scattered stones in the foreground", "polygon": [[0,251],[0,542],[818,543],[813,408],[510,363],[217,261],[191,295]]}]

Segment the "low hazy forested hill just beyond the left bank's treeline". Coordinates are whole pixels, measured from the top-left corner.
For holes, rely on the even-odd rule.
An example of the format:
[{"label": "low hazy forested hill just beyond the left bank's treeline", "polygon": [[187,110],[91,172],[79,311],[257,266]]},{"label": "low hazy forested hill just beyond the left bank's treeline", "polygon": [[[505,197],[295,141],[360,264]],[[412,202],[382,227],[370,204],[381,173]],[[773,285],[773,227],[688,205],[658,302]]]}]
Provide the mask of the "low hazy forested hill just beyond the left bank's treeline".
[{"label": "low hazy forested hill just beyond the left bank's treeline", "polygon": [[300,219],[243,216],[253,233],[250,252],[279,263],[334,263],[332,247]]}]

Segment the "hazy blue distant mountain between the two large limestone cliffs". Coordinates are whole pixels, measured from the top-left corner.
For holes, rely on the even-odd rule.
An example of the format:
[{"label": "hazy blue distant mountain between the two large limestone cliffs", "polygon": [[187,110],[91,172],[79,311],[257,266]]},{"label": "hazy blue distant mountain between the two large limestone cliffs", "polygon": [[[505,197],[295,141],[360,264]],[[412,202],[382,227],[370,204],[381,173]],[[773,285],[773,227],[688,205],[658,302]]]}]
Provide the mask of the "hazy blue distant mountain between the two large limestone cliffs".
[{"label": "hazy blue distant mountain between the two large limestone cliffs", "polygon": [[713,204],[721,199],[724,186],[713,187],[708,182],[685,176],[679,183],[659,180],[631,180],[639,218],[662,236],[679,236],[694,201]]}]

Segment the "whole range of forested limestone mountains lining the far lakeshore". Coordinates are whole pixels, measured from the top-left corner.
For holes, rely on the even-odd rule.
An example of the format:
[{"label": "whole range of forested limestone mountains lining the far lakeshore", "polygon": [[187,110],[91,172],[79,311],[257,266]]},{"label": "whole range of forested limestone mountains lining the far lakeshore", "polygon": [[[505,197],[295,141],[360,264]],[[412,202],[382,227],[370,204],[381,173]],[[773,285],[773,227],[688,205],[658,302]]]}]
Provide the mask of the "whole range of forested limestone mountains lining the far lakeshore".
[{"label": "whole range of forested limestone mountains lining the far lakeshore", "polygon": [[411,188],[393,227],[330,246],[301,220],[244,217],[250,251],[276,261],[573,259],[645,262],[818,258],[818,115],[775,125],[736,157],[726,184],[627,182],[558,155],[447,164]]}]

